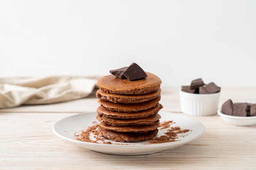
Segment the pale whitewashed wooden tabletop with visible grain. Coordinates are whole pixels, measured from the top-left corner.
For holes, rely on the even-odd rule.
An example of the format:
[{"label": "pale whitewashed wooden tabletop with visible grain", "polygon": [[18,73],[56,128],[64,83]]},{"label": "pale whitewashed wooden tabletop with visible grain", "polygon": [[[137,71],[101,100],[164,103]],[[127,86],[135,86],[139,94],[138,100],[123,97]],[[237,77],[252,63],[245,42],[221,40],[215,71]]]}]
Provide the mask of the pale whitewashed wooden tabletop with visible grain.
[{"label": "pale whitewashed wooden tabletop with visible grain", "polygon": [[[219,107],[228,99],[256,103],[256,88],[222,88]],[[183,114],[178,88],[162,88],[161,111]],[[0,169],[256,169],[256,126],[234,126],[213,116],[188,116],[204,134],[183,146],[149,155],[107,155],[74,146],[54,135],[53,124],[67,116],[96,111],[87,98],[52,105],[0,109]]]}]

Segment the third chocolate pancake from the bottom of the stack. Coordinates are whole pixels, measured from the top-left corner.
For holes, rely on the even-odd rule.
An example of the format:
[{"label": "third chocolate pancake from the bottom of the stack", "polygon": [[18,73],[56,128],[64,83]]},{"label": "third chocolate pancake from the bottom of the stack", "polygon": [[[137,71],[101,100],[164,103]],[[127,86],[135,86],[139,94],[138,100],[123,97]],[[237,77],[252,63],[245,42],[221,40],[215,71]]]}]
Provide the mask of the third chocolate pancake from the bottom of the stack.
[{"label": "third chocolate pancake from the bottom of the stack", "polygon": [[161,118],[159,114],[155,114],[153,116],[148,116],[146,118],[137,118],[137,119],[111,119],[111,118],[104,118],[100,115],[97,115],[97,120],[100,122],[104,122],[105,124],[112,125],[112,126],[131,126],[131,125],[148,125],[154,124],[157,120]]}]

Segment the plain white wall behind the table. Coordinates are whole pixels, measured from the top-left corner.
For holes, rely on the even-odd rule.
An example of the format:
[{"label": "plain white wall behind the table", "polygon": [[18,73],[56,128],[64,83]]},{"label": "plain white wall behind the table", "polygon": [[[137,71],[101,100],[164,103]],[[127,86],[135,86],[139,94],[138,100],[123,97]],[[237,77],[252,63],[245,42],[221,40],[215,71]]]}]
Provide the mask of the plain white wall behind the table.
[{"label": "plain white wall behind the table", "polygon": [[0,0],[0,77],[109,74],[256,86],[255,0]]}]

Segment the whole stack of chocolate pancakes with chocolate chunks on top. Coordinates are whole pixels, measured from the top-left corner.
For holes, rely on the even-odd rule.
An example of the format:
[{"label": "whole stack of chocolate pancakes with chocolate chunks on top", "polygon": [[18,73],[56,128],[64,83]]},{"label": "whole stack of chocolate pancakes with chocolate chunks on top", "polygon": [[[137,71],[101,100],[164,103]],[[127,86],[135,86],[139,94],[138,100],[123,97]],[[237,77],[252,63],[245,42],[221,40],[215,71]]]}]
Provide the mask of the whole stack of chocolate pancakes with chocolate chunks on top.
[{"label": "whole stack of chocolate pancakes with chocolate chunks on top", "polygon": [[159,103],[161,79],[136,63],[110,73],[99,79],[96,92],[99,135],[118,142],[153,139],[158,133],[158,112],[163,108]]}]

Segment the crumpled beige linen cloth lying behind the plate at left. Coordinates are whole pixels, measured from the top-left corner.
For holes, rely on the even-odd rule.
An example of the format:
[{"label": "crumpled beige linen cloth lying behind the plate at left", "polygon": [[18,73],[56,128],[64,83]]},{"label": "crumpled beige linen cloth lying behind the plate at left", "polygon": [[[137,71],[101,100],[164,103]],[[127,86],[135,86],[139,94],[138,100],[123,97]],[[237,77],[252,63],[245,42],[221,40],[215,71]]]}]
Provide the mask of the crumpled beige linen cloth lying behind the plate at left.
[{"label": "crumpled beige linen cloth lying behind the plate at left", "polygon": [[45,76],[0,78],[0,109],[50,104],[85,98],[100,76]]}]

